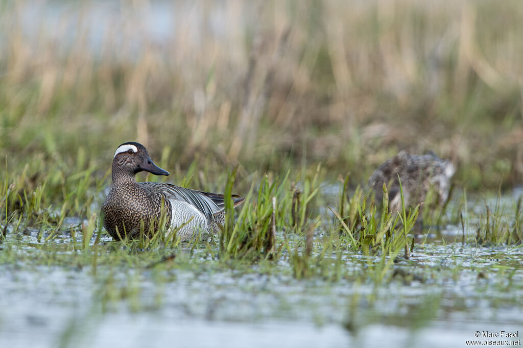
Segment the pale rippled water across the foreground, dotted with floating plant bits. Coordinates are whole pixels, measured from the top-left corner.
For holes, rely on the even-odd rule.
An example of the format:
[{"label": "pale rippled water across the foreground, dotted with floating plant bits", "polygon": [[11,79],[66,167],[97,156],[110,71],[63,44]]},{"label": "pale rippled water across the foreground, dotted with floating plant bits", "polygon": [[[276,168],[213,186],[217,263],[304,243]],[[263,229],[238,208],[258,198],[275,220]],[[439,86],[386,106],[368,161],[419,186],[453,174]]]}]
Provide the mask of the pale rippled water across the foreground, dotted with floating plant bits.
[{"label": "pale rippled water across the foreground, dotted with floating plant bits", "polygon": [[[35,238],[22,237],[23,252],[45,252],[25,243],[37,246]],[[343,259],[354,274],[368,261]],[[464,346],[476,330],[521,328],[522,260],[517,248],[429,244],[383,284],[295,280],[287,260],[270,274],[199,260],[198,271],[99,267],[97,276],[20,261],[0,268],[0,346],[378,347],[384,338],[391,347]],[[139,294],[103,308],[99,289],[109,277],[116,287],[134,282]]]}]

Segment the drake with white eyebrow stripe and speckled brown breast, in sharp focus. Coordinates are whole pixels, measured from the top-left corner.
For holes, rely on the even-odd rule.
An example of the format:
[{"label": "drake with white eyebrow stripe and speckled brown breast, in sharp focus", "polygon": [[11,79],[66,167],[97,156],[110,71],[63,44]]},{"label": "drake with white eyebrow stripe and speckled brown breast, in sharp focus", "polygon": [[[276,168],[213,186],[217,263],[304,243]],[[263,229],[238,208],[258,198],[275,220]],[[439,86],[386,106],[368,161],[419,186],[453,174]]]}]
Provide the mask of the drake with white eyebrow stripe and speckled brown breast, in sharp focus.
[{"label": "drake with white eyebrow stripe and speckled brown breast, in sharp focus", "polygon": [[[112,160],[111,191],[101,206],[104,227],[112,238],[138,237],[142,221],[144,233],[151,236],[158,228],[162,206],[167,226],[170,229],[182,226],[177,232],[181,240],[189,240],[199,233],[218,232],[219,225],[224,223],[223,194],[169,183],[137,182],[135,174],[142,170],[154,175],[169,175],[153,163],[143,145],[128,142],[118,146]],[[234,206],[244,201],[238,195],[232,195],[232,198]],[[150,230],[151,223],[154,230]]]}]

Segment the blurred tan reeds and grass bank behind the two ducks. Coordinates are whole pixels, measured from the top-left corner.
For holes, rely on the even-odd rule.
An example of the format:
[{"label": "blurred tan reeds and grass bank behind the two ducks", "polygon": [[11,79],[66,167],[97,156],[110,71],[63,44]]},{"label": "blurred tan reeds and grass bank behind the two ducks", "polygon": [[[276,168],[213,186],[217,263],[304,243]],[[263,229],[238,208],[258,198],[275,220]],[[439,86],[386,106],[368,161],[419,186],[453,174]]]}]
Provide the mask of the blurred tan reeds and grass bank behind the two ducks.
[{"label": "blurred tan reeds and grass bank behind the two ducks", "polygon": [[136,140],[182,172],[194,161],[244,173],[322,161],[356,184],[408,149],[451,158],[472,190],[523,178],[517,0],[0,10],[9,172],[29,163],[35,176],[53,166],[103,175],[116,146]]}]

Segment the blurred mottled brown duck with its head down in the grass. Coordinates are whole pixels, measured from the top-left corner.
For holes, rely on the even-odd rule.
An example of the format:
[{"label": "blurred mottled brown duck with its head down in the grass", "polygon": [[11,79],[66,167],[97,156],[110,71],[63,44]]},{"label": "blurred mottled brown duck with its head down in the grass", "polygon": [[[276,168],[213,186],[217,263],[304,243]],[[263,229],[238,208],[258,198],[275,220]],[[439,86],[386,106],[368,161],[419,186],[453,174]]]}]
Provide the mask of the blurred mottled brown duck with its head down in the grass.
[{"label": "blurred mottled brown duck with its head down in the grass", "polygon": [[426,155],[410,155],[402,150],[396,156],[383,162],[369,178],[369,186],[376,192],[376,199],[383,199],[383,183],[389,192],[389,210],[401,209],[401,194],[398,175],[403,188],[405,206],[425,202],[427,192],[433,188],[437,203],[443,204],[448,198],[450,179],[454,165],[442,160],[433,152]]}]

